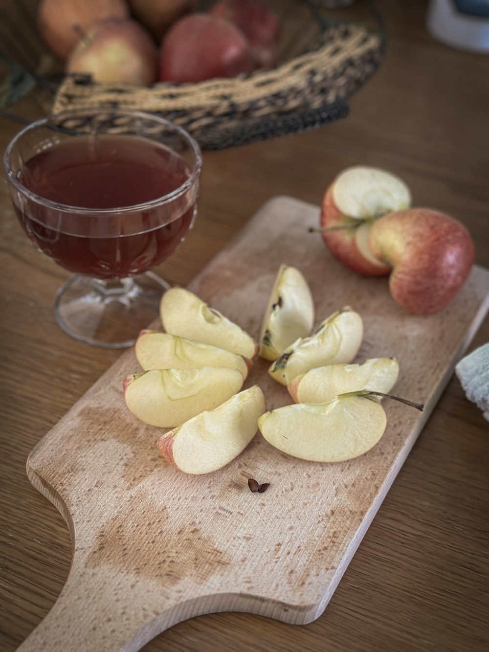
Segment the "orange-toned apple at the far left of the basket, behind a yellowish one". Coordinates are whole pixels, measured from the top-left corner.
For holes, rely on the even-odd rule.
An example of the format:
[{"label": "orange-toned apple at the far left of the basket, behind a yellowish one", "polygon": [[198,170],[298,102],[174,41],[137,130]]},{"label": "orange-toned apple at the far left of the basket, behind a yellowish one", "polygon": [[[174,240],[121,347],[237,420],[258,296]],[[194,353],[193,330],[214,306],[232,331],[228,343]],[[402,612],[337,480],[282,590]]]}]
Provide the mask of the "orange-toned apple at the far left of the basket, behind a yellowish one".
[{"label": "orange-toned apple at the far left of the basket, behind a yellowish one", "polygon": [[42,0],[38,9],[39,33],[50,50],[67,59],[80,42],[74,25],[87,32],[109,18],[129,18],[123,0]]}]

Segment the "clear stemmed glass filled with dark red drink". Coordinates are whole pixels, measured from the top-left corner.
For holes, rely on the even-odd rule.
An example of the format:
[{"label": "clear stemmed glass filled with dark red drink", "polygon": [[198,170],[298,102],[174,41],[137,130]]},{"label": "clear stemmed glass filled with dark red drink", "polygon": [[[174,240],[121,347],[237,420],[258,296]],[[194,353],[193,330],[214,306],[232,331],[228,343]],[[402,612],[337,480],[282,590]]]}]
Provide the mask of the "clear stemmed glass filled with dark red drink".
[{"label": "clear stemmed glass filled with dark red drink", "polygon": [[75,273],[55,298],[61,328],[87,344],[132,345],[169,287],[149,270],[196,216],[196,141],[141,111],[70,110],[23,129],[4,162],[27,235]]}]

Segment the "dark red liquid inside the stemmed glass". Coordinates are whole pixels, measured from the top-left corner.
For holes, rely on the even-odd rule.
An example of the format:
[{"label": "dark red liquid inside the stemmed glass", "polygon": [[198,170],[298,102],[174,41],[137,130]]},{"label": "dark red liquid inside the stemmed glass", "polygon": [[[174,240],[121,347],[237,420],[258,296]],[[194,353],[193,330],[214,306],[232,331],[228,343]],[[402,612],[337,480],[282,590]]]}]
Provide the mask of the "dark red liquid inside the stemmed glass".
[{"label": "dark red liquid inside the stemmed glass", "polygon": [[185,161],[162,145],[131,136],[78,136],[29,159],[19,181],[38,196],[93,209],[71,214],[35,200],[14,201],[29,237],[69,271],[125,278],[164,261],[190,228],[194,188],[162,205],[126,215],[100,215],[157,200],[190,176]]}]

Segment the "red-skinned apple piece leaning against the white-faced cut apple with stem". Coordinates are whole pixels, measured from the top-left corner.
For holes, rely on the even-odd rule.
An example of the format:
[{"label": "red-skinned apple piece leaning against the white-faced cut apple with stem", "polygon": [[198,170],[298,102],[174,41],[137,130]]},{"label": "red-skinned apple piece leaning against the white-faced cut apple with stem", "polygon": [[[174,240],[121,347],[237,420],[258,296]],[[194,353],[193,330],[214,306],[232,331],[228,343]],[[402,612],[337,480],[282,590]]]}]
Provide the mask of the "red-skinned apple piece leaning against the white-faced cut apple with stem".
[{"label": "red-skinned apple piece leaning against the white-faced cut apple with stem", "polygon": [[475,258],[466,228],[426,208],[379,218],[370,229],[368,246],[393,267],[389,287],[394,301],[417,315],[445,308],[466,282]]}]

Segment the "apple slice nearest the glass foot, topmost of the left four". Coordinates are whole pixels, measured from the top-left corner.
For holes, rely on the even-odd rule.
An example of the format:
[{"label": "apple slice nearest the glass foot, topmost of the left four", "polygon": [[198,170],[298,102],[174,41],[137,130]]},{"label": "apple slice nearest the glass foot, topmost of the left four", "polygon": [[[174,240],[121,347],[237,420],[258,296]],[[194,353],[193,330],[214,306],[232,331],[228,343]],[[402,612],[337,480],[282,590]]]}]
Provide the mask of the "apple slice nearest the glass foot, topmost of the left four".
[{"label": "apple slice nearest the glass foot, topmost of the left four", "polygon": [[211,344],[250,360],[258,351],[246,331],[188,289],[167,290],[161,300],[160,316],[165,331],[172,335]]}]

